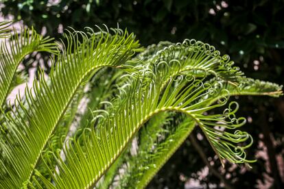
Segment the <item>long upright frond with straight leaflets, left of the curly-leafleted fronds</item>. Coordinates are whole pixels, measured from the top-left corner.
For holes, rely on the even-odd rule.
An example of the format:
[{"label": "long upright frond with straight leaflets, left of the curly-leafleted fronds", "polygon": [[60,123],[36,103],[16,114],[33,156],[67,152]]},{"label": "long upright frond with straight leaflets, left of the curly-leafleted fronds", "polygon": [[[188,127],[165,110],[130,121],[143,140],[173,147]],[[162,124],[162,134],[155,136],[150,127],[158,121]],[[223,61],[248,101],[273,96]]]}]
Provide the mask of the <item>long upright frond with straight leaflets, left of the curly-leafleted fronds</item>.
[{"label": "long upright frond with straight leaflets, left of the curly-leafleted fronds", "polygon": [[101,31],[99,38],[93,32],[86,35],[80,31],[74,31],[73,34],[69,32],[68,36],[66,50],[51,68],[49,80],[45,81],[41,73],[40,80],[34,81],[33,89],[25,89],[26,107],[16,100],[21,108],[15,112],[23,111],[25,115],[5,115],[10,136],[0,138],[4,154],[0,159],[3,167],[0,177],[2,188],[21,188],[29,182],[40,153],[45,149],[78,88],[86,84],[86,79],[98,68],[117,67],[126,62],[133,54],[133,49],[139,46],[133,34],[120,29],[115,29],[114,35]]}]

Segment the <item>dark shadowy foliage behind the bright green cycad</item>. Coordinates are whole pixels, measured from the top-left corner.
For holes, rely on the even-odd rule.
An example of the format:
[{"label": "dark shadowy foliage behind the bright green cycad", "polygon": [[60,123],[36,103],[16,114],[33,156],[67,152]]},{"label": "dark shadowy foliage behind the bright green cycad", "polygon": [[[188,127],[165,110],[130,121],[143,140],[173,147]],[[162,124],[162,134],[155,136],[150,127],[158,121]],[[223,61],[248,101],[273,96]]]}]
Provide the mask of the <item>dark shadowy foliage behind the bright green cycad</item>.
[{"label": "dark shadowy foliage behind the bright green cycad", "polygon": [[[101,25],[128,28],[144,46],[161,40],[180,42],[185,38],[202,40],[228,53],[248,77],[284,84],[284,1],[5,1],[2,14],[14,15],[25,25],[40,31],[46,27],[50,36],[60,36],[58,25],[74,29]],[[26,60],[26,63],[29,61]],[[31,64],[26,66],[28,69]],[[246,102],[246,103],[244,103]],[[202,177],[204,186],[220,187],[226,178],[227,188],[256,188],[265,174],[274,179],[273,188],[284,181],[284,98],[240,97],[239,116],[246,116],[244,129],[255,139],[248,149],[250,158],[265,151],[269,158],[257,155],[252,169],[226,164],[225,170],[215,160],[209,143],[193,138],[171,157],[150,183],[150,188],[184,188],[185,180],[198,178],[197,172],[211,162],[209,175]],[[207,157],[196,151],[198,144]],[[264,146],[259,145],[264,143]],[[215,164],[212,164],[212,163]],[[270,165],[270,168],[268,168]],[[222,171],[221,171],[222,170]],[[282,173],[281,173],[282,171]],[[281,175],[282,174],[282,175]],[[224,181],[223,181],[224,182]],[[221,185],[224,186],[224,185]]]}]

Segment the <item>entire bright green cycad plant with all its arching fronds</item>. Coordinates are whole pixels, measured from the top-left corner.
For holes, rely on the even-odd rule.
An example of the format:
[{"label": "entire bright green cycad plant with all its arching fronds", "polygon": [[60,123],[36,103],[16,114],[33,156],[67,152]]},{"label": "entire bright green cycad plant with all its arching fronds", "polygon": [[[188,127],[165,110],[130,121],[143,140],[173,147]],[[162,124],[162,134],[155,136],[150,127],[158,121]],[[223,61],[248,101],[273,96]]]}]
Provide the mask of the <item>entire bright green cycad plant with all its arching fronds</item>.
[{"label": "entire bright green cycad plant with all its arching fronds", "polygon": [[[228,55],[196,40],[143,49],[128,31],[88,27],[67,31],[60,47],[34,29],[0,25],[1,188],[144,188],[195,126],[223,166],[249,166],[253,140],[239,130],[246,118],[228,98],[282,94],[282,86],[245,77]],[[51,53],[48,78],[41,69],[11,103],[19,64],[34,51]],[[106,68],[119,68],[119,77]],[[106,99],[93,99],[102,73],[114,81],[101,86]],[[83,100],[91,116],[80,124],[83,115],[73,112]]]}]

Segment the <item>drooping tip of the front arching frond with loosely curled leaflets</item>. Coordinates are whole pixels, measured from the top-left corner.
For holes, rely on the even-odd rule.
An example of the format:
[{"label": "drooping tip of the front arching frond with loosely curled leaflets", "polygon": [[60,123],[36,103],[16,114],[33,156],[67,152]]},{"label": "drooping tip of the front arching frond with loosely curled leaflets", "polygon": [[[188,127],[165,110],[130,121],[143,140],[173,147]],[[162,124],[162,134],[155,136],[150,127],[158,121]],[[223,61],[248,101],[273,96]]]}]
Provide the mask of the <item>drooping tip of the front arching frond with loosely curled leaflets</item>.
[{"label": "drooping tip of the front arching frond with loosely curled leaflets", "polygon": [[[246,159],[245,149],[251,146],[252,137],[247,132],[238,130],[246,123],[246,118],[235,116],[238,107],[237,103],[231,102],[223,114],[199,115],[196,117],[199,120],[198,125],[220,159],[237,164],[255,162]],[[232,133],[230,130],[235,131]],[[246,142],[244,146],[239,145],[244,142]]]}]

